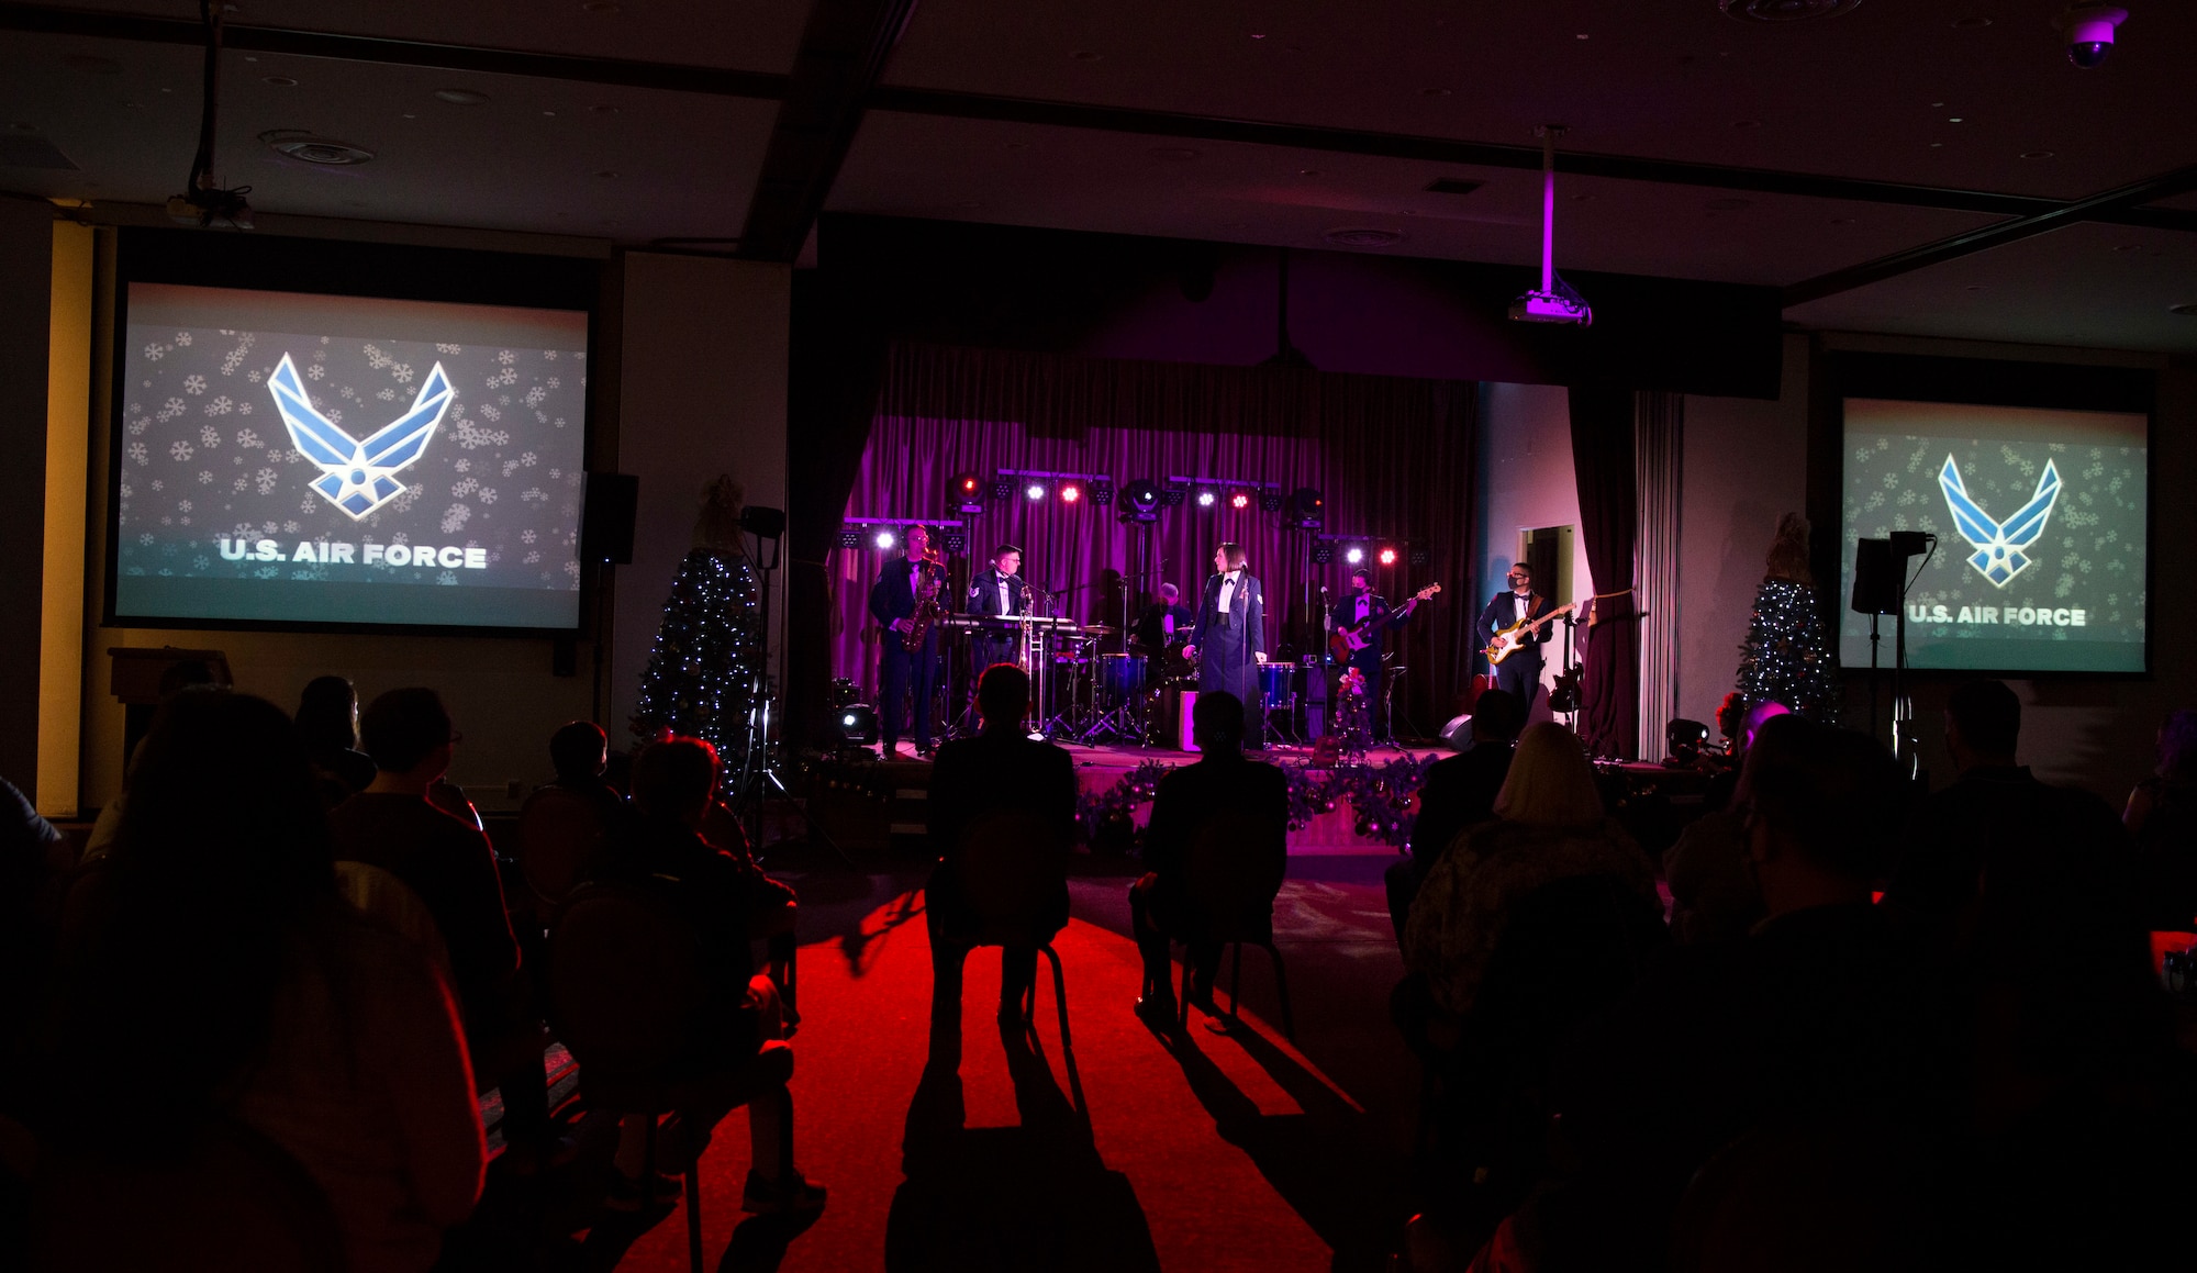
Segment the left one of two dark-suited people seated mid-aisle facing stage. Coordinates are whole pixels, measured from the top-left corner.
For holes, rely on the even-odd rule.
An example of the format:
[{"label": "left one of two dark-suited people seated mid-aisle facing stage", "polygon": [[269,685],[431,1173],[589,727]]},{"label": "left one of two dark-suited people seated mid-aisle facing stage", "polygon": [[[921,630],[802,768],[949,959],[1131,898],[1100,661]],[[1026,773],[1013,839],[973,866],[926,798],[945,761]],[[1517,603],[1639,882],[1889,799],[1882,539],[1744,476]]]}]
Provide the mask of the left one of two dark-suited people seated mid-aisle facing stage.
[{"label": "left one of two dark-suited people seated mid-aisle facing stage", "polygon": [[1013,663],[993,663],[975,687],[984,720],[975,737],[938,748],[932,766],[929,838],[938,867],[925,885],[925,926],[932,935],[932,1036],[960,1038],[962,961],[978,931],[997,915],[978,915],[964,878],[964,836],[995,814],[1019,814],[1044,827],[1046,843],[1033,854],[1055,854],[1063,874],[1046,889],[1037,913],[1028,915],[1028,946],[1000,950],[1000,1023],[1024,1025],[1024,999],[1037,981],[1037,946],[1068,926],[1066,854],[1077,830],[1077,773],[1068,753],[1050,742],[1022,735],[1022,713],[1030,705],[1030,678]]}]

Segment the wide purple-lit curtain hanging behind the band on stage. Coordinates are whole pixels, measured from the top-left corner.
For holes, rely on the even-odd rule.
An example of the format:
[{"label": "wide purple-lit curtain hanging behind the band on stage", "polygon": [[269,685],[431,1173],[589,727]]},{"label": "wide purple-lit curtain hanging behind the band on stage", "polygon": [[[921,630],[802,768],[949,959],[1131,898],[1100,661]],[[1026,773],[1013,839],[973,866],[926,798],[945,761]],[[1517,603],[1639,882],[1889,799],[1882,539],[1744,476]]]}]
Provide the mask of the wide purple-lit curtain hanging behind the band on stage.
[{"label": "wide purple-lit curtain hanging behind the band on stage", "polygon": [[[1463,382],[896,345],[846,516],[953,520],[953,476],[969,472],[989,485],[997,470],[1105,474],[1116,489],[1171,476],[1279,483],[1279,494],[1316,487],[1329,533],[1413,538],[1430,553],[1424,568],[1406,555],[1378,575],[1393,599],[1426,584],[1446,588],[1402,641],[1391,639],[1393,663],[1410,667],[1397,709],[1430,731],[1470,678],[1472,615],[1461,582],[1474,406],[1474,386]],[[1120,626],[1160,582],[1182,588],[1195,608],[1215,544],[1235,540],[1265,586],[1268,650],[1305,650],[1316,641],[1320,586],[1336,604],[1347,593],[1342,553],[1314,566],[1312,538],[1285,531],[1283,514],[1261,511],[1250,489],[1254,503],[1244,511],[1228,509],[1226,494],[1215,509],[1193,500],[1164,507],[1142,577],[1142,531],[1120,525],[1114,509],[1088,507],[1090,498],[1070,507],[1057,494],[1033,503],[1019,483],[1004,500],[986,489],[986,511],[964,518],[969,551],[953,562],[956,593],[964,595],[964,579],[993,547],[1017,544],[1024,577],[1052,590],[1063,615]],[[883,560],[870,547],[833,549],[826,560],[833,674],[863,691],[877,685],[868,590]]]}]

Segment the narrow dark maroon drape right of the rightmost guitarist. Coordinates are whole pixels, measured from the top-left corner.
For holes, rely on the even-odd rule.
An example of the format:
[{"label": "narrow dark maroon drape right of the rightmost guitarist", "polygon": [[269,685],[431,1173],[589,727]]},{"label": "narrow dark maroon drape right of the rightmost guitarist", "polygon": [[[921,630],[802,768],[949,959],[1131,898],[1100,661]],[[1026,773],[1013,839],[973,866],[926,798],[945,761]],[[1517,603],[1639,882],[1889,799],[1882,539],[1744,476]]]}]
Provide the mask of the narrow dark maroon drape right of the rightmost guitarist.
[{"label": "narrow dark maroon drape right of the rightmost guitarist", "polygon": [[1586,566],[1595,575],[1580,737],[1595,755],[1637,759],[1641,647],[1632,542],[1639,536],[1639,496],[1630,388],[1571,388],[1571,463],[1580,485]]}]

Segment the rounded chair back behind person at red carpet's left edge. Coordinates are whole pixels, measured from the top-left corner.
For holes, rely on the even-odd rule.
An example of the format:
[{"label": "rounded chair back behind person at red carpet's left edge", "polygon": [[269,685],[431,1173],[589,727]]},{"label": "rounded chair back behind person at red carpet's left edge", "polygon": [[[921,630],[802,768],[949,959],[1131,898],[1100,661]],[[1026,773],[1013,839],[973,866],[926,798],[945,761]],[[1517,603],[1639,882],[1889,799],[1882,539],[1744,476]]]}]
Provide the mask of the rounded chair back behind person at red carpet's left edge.
[{"label": "rounded chair back behind person at red carpet's left edge", "polygon": [[650,1080],[692,1056],[701,937],[639,885],[580,885],[549,931],[551,1025],[582,1075]]}]

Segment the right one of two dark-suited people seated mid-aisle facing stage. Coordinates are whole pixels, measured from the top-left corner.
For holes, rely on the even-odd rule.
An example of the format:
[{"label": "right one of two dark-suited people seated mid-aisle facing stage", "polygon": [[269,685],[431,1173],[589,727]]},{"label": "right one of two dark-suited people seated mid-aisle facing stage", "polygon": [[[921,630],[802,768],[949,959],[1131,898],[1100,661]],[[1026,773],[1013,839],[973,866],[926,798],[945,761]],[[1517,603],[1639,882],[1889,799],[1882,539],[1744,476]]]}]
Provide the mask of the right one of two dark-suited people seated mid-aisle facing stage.
[{"label": "right one of two dark-suited people seated mid-aisle facing stage", "polygon": [[1206,1016],[1219,1016],[1213,979],[1219,975],[1222,944],[1206,937],[1208,915],[1189,898],[1184,874],[1191,845],[1219,819],[1235,819],[1237,834],[1250,838],[1239,847],[1259,871],[1244,887],[1265,893],[1268,915],[1290,867],[1290,781],[1279,768],[1246,759],[1244,700],[1228,691],[1200,694],[1191,731],[1202,748],[1200,759],[1160,779],[1160,790],[1151,797],[1151,823],[1145,827],[1147,871],[1129,887],[1129,924],[1149,985],[1149,994],[1136,1001],[1136,1012],[1169,1027],[1175,1023],[1175,992],[1167,946],[1175,937],[1191,948],[1184,996]]}]

